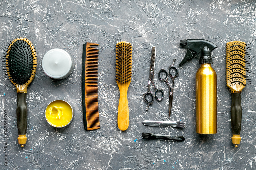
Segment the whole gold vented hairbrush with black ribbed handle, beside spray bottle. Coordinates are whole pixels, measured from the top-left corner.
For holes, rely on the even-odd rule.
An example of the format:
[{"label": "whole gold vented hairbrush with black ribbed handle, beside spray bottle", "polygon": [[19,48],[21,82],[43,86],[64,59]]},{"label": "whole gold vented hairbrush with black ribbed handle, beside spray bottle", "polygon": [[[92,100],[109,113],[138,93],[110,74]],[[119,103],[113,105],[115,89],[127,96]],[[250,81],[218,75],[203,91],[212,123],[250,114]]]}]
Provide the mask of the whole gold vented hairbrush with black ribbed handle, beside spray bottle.
[{"label": "whole gold vented hairbrush with black ribbed handle, beside spray bottle", "polygon": [[242,41],[231,41],[226,44],[226,84],[231,90],[231,127],[232,143],[240,143],[242,106],[242,89],[249,85],[250,80],[250,47]]}]

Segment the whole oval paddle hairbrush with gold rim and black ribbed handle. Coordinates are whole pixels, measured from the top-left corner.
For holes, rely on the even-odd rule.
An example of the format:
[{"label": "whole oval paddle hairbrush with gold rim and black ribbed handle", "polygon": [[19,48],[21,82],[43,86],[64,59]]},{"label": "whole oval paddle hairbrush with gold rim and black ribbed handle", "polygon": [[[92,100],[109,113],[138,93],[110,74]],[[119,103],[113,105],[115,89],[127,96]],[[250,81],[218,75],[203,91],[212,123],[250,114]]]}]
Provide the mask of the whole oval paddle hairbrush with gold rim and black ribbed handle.
[{"label": "whole oval paddle hairbrush with gold rim and black ribbed handle", "polygon": [[33,44],[27,38],[16,38],[9,43],[3,64],[6,78],[15,85],[17,89],[17,126],[18,142],[23,144],[27,142],[27,87],[32,82],[36,73],[36,50]]}]

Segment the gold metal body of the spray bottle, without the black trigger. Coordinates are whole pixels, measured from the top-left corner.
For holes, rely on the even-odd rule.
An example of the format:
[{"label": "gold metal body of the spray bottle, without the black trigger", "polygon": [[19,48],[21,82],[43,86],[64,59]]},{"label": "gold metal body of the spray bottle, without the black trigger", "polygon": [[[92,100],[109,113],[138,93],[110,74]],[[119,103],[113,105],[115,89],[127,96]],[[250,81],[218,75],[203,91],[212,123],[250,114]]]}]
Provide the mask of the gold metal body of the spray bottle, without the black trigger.
[{"label": "gold metal body of the spray bottle, without the black trigger", "polygon": [[196,133],[217,133],[217,75],[210,63],[196,72]]}]

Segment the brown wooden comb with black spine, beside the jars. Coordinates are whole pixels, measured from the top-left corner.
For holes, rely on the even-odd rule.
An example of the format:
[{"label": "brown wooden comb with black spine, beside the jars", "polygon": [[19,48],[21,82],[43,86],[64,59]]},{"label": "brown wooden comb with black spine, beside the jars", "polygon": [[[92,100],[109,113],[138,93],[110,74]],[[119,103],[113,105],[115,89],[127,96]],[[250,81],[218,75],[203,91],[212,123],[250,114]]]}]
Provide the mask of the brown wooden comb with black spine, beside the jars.
[{"label": "brown wooden comb with black spine, beside the jars", "polygon": [[82,57],[82,105],[85,130],[100,128],[98,103],[99,44],[84,43]]}]

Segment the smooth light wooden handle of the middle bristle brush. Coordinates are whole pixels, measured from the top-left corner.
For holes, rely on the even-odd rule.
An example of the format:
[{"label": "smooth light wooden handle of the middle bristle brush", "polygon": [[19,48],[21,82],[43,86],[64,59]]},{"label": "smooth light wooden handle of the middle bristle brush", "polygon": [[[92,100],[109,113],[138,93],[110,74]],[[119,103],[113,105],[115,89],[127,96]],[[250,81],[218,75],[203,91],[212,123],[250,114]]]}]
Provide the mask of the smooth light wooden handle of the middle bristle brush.
[{"label": "smooth light wooden handle of the middle bristle brush", "polygon": [[117,83],[120,90],[120,98],[117,114],[117,125],[120,130],[126,130],[129,127],[129,107],[127,99],[127,90],[130,82]]}]

